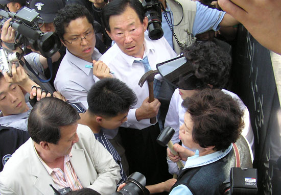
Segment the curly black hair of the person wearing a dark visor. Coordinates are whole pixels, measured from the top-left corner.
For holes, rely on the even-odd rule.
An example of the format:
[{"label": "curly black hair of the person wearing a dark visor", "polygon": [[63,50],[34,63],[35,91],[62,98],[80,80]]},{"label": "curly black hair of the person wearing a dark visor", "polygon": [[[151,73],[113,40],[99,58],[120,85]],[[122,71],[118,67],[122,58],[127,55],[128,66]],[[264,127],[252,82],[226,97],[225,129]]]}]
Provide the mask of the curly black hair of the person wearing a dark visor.
[{"label": "curly black hair of the person wearing a dark visor", "polygon": [[222,89],[229,79],[231,56],[212,41],[196,42],[184,52],[194,75],[207,86]]}]

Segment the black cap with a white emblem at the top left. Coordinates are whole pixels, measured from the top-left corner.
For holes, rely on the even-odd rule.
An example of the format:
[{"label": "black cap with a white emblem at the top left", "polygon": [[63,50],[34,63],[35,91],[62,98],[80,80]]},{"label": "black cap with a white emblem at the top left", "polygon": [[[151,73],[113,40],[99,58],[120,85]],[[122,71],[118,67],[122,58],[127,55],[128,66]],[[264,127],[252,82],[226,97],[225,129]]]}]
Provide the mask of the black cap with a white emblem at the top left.
[{"label": "black cap with a white emblem at the top left", "polygon": [[35,9],[45,23],[51,23],[57,16],[58,11],[63,8],[63,2],[62,0],[33,0],[30,3],[30,8]]}]

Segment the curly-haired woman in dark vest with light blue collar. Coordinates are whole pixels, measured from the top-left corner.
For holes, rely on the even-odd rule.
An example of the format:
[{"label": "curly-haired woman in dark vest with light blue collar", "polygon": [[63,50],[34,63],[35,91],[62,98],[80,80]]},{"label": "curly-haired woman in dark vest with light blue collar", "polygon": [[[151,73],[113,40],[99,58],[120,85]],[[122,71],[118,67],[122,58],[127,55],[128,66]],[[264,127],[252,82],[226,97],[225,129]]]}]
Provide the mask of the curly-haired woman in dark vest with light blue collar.
[{"label": "curly-haired woman in dark vest with light blue collar", "polygon": [[196,152],[180,170],[170,195],[219,194],[231,167],[252,167],[248,143],[240,135],[243,112],[220,89],[201,90],[185,99],[183,107],[179,138]]}]

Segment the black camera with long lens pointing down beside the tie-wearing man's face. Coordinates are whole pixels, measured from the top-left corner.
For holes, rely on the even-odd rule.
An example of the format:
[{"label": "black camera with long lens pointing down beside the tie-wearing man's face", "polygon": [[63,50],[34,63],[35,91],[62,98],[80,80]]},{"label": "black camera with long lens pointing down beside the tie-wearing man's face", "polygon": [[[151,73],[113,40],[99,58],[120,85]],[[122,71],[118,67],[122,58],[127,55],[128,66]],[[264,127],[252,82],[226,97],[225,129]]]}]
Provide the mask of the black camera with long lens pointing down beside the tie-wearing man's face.
[{"label": "black camera with long lens pointing down beside the tie-wearing man's face", "polygon": [[147,30],[149,38],[152,40],[160,39],[163,36],[163,30],[161,28],[162,4],[158,0],[143,0],[142,4],[145,10],[145,15],[148,17]]}]

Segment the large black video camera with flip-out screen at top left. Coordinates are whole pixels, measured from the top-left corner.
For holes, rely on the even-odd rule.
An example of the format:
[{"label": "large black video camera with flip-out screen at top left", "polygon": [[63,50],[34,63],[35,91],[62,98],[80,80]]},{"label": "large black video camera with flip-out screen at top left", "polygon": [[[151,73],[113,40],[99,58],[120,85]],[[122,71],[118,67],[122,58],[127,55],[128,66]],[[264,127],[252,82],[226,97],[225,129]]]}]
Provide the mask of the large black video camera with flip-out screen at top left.
[{"label": "large black video camera with flip-out screen at top left", "polygon": [[31,45],[31,47],[40,51],[42,56],[50,58],[56,53],[61,45],[60,39],[56,33],[43,33],[39,30],[38,21],[43,20],[39,13],[27,7],[22,7],[16,13],[0,10],[0,16],[3,17],[0,26],[9,18],[10,26],[17,31],[15,43],[17,45]]}]

